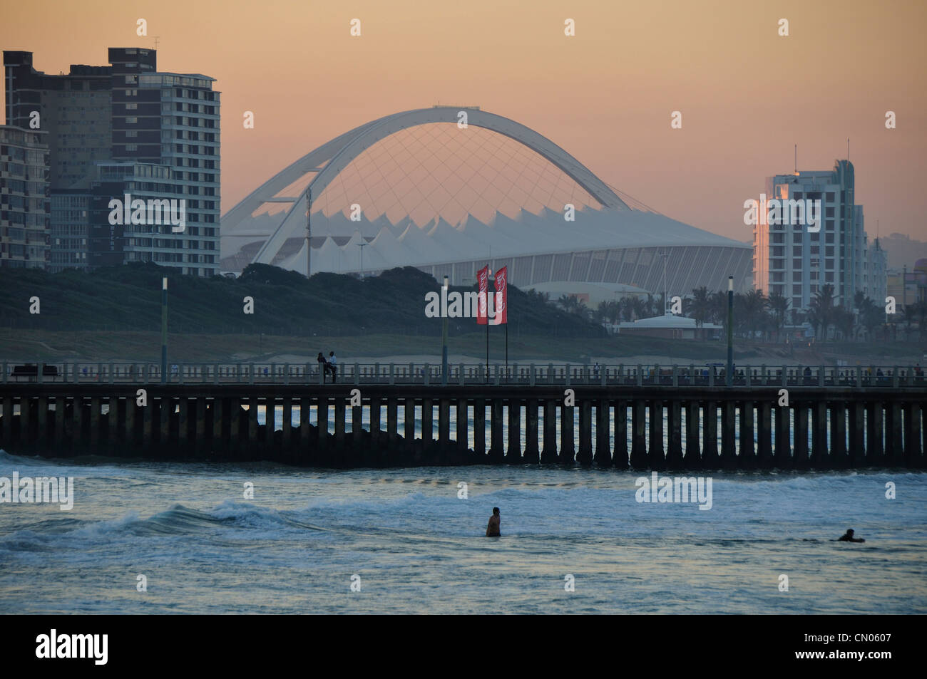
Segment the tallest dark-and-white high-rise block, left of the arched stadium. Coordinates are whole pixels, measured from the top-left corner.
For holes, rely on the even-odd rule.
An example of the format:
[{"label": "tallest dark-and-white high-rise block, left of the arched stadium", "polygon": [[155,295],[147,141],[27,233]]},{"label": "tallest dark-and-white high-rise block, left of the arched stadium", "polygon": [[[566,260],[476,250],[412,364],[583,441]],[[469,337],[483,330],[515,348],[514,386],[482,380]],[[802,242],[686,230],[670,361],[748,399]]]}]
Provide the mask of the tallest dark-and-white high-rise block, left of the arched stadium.
[{"label": "tallest dark-and-white high-rise block, left of the arched stadium", "polygon": [[[150,49],[110,48],[108,58],[109,66],[71,66],[55,76],[33,69],[30,52],[4,52],[7,120],[38,120],[54,141],[51,268],[153,261],[219,273],[214,79],[159,72]],[[126,197],[182,201],[183,228],[149,220],[150,210],[145,220],[110,223],[111,201]]]}]

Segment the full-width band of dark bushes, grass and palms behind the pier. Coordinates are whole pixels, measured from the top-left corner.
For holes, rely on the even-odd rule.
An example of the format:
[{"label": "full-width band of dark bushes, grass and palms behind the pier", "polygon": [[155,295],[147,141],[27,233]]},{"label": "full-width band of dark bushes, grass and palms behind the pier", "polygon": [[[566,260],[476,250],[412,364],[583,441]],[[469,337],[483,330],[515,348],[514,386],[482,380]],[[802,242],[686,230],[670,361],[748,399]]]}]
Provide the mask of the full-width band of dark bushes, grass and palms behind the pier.
[{"label": "full-width band of dark bushes, grass and palms behind the pier", "polygon": [[[202,279],[146,264],[90,273],[0,269],[4,292],[0,298],[0,358],[159,361],[160,287],[166,273],[171,360],[312,358],[329,349],[345,359],[418,356],[437,361],[440,357],[441,322],[425,317],[425,293],[438,291],[439,285],[420,270],[389,270],[363,280],[320,273],[307,281],[293,271],[252,265],[238,279]],[[471,288],[452,289],[464,292]],[[726,294],[704,289],[693,293],[684,308],[688,315],[699,322],[726,321]],[[29,313],[32,296],[41,299],[40,314]],[[253,315],[243,312],[246,296],[254,298]],[[842,331],[835,312],[828,310],[834,307],[828,306],[826,295],[819,296],[815,308],[830,319],[832,331],[836,328],[835,339],[786,348],[748,339],[746,334],[759,329],[767,338],[775,337],[787,321],[794,321],[787,318],[791,315],[787,300],[783,304],[777,295],[738,295],[735,322],[743,336],[735,342],[735,359],[769,365],[817,365],[837,358],[851,364],[863,360],[883,361],[884,365],[921,360],[919,344],[883,341],[881,324],[866,329],[865,319],[874,319],[882,308],[876,314],[870,302],[857,300],[856,317],[864,321],[859,321],[855,332]],[[659,297],[651,297],[610,303],[593,311],[574,297],[555,304],[547,295],[510,286],[510,362],[584,363],[608,358],[618,363],[623,357],[659,357],[680,364],[724,360],[722,342],[608,335],[600,324],[654,316],[661,306]],[[918,308],[909,308],[893,325],[912,336],[917,332],[914,328],[927,324],[917,315]],[[880,322],[883,319],[881,314]],[[449,326],[451,355],[482,360],[484,328],[473,319],[451,319]],[[503,328],[490,328],[490,359],[501,361],[504,347]]]}]

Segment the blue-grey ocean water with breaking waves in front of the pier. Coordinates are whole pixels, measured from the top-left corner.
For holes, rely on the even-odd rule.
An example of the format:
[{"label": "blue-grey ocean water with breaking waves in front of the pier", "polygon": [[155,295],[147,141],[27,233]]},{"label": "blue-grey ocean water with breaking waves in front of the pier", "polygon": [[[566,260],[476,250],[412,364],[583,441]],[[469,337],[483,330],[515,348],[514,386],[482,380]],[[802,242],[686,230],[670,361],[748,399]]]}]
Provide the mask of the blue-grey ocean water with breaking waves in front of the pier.
[{"label": "blue-grey ocean water with breaking waves in front of the pier", "polygon": [[74,504],[0,504],[0,613],[927,612],[923,473],[713,472],[699,509],[638,502],[649,474],[527,466],[0,452],[13,472],[73,477]]}]

